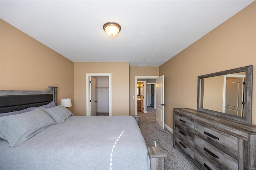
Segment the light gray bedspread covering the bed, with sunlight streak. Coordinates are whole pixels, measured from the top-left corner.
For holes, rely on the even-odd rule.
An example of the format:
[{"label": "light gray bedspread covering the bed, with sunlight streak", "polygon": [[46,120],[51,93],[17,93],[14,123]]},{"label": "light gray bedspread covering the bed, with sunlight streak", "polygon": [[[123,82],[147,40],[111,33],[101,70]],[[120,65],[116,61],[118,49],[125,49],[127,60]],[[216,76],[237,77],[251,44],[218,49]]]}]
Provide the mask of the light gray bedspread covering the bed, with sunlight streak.
[{"label": "light gray bedspread covering the bed, with sunlight streak", "polygon": [[1,169],[149,170],[144,138],[131,116],[71,116],[26,142],[0,142]]}]

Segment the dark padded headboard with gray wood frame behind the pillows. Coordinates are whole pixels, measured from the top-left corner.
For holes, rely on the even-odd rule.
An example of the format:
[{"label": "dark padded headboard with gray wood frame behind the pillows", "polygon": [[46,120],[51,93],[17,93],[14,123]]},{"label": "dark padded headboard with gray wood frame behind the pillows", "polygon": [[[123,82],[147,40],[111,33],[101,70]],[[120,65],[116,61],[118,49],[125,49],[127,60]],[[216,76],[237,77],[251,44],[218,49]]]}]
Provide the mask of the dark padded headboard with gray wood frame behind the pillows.
[{"label": "dark padded headboard with gray wood frame behind the pillows", "polygon": [[57,102],[57,87],[48,87],[48,91],[0,91],[0,113],[19,111],[28,107]]}]

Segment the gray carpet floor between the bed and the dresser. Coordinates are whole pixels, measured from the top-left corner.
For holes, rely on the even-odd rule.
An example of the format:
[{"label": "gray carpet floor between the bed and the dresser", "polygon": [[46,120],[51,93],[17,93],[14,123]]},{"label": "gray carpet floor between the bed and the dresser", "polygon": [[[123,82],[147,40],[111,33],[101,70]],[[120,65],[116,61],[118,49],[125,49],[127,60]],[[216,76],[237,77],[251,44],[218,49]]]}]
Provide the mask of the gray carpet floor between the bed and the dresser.
[{"label": "gray carpet floor between the bed and the dresser", "polygon": [[166,170],[196,170],[178,149],[173,148],[173,135],[166,128],[162,129],[156,123],[156,109],[147,107],[148,113],[138,113],[140,130],[147,146],[161,146],[167,155]]}]

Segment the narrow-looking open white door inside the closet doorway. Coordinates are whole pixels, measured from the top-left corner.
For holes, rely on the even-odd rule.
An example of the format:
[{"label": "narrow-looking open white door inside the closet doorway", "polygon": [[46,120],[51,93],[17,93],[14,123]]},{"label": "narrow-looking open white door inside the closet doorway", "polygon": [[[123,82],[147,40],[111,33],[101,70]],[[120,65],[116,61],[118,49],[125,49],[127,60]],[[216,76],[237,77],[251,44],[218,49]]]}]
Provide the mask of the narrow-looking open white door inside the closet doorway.
[{"label": "narrow-looking open white door inside the closet doorway", "polygon": [[96,79],[90,77],[90,116],[96,116]]}]

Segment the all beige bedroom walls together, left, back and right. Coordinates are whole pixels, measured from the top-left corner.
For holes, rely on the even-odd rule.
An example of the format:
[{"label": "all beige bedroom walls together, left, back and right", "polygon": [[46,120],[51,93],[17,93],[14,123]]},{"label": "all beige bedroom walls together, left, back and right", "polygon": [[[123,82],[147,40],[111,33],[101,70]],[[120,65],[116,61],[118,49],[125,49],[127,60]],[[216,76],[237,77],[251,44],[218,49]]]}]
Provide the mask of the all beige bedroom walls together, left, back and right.
[{"label": "all beige bedroom walls together, left, back and right", "polygon": [[86,73],[112,73],[112,115],[134,115],[135,76],[165,75],[164,119],[171,128],[173,108],[196,109],[198,75],[254,65],[252,123],[256,125],[256,2],[160,67],[73,63],[3,20],[0,43],[1,90],[58,86],[57,104],[61,98],[71,98],[75,104],[69,109],[76,115],[86,115]]}]

